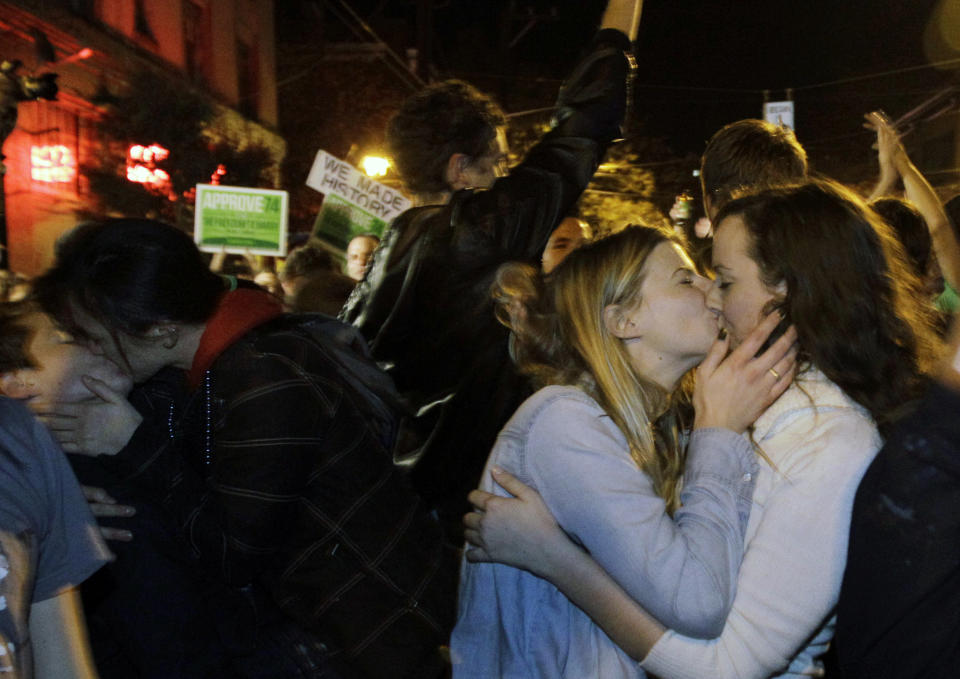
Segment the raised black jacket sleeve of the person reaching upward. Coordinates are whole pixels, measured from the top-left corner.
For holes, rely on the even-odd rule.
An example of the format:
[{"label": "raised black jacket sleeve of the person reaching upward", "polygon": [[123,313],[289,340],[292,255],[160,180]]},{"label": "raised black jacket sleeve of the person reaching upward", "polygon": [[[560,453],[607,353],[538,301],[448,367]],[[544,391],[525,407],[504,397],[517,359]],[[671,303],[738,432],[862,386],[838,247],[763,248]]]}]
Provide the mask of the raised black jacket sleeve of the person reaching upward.
[{"label": "raised black jacket sleeve of the person reaching upward", "polygon": [[511,258],[539,257],[620,136],[635,70],[630,49],[620,31],[597,34],[560,90],[551,131],[492,188],[455,197],[454,227],[479,227]]}]

